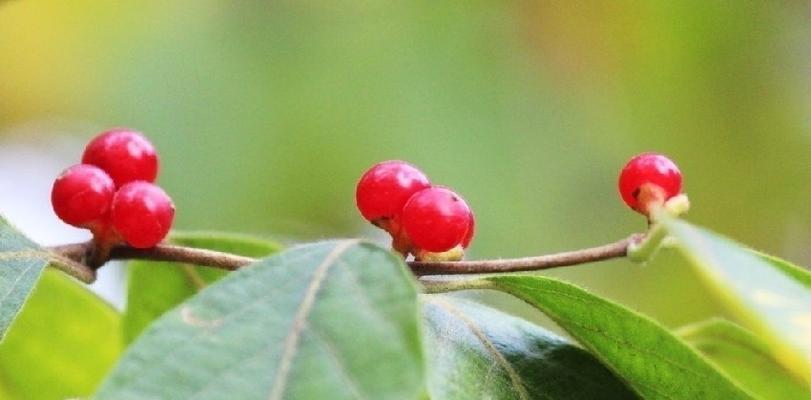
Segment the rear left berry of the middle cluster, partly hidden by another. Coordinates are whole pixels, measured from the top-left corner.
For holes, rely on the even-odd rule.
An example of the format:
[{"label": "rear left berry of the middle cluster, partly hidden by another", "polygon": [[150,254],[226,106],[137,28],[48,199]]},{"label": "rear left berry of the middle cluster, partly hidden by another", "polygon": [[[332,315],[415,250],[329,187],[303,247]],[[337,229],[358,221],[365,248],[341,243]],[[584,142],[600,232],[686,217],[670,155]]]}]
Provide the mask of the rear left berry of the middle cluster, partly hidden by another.
[{"label": "rear left berry of the middle cluster, partly hidden by another", "polygon": [[384,161],[369,168],[355,190],[358,210],[370,222],[398,216],[408,199],[431,186],[428,177],[404,161]]}]

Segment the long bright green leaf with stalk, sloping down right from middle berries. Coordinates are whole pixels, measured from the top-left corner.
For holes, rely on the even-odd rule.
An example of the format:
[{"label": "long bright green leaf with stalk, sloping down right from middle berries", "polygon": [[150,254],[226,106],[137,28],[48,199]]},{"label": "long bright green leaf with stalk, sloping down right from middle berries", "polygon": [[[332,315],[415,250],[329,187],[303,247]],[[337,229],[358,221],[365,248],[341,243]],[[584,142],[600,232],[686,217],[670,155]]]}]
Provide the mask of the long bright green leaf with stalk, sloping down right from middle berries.
[{"label": "long bright green leaf with stalk, sloping down right from middle berries", "polygon": [[647,399],[745,399],[742,389],[658,323],[571,284],[493,275],[437,290],[493,289],[537,307]]}]

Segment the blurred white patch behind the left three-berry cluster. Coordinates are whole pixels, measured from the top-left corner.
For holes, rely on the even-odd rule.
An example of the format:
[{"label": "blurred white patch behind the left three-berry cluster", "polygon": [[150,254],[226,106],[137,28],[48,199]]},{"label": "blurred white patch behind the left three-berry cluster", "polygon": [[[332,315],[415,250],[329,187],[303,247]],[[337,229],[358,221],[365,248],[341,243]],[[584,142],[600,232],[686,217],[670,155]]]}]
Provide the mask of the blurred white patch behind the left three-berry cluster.
[{"label": "blurred white patch behind the left three-berry cluster", "polygon": [[[97,131],[96,127],[77,129]],[[90,238],[86,230],[59,220],[51,208],[54,179],[63,169],[79,162],[84,148],[84,143],[71,133],[38,125],[0,132],[0,214],[43,246]],[[90,288],[122,309],[124,282],[123,265],[109,263],[99,270],[98,280]]]}]

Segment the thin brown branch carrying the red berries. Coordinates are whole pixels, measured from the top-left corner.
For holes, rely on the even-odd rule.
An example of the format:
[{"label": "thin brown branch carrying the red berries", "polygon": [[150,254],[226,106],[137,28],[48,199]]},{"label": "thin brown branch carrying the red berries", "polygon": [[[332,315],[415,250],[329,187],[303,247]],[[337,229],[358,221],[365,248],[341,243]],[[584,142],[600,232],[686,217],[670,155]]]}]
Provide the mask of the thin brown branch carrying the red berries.
[{"label": "thin brown branch carrying the red berries", "polygon": [[[638,242],[643,237],[644,235],[635,234],[626,239],[603,246],[537,257],[481,261],[410,261],[408,262],[408,266],[417,276],[537,271],[542,269],[585,264],[609,260],[612,258],[625,257],[627,254],[628,245],[632,242]],[[93,242],[56,246],[51,247],[48,250],[55,253],[57,256],[75,261],[76,263],[79,263],[79,265],[84,265],[86,267],[88,255],[91,254],[93,250]],[[254,258],[238,256],[230,253],[172,245],[158,245],[157,247],[153,247],[151,249],[115,247],[110,252],[109,259],[170,261],[221,268],[229,271],[239,269],[240,267],[244,267],[256,261]],[[86,268],[90,272],[94,272],[92,268]]]}]

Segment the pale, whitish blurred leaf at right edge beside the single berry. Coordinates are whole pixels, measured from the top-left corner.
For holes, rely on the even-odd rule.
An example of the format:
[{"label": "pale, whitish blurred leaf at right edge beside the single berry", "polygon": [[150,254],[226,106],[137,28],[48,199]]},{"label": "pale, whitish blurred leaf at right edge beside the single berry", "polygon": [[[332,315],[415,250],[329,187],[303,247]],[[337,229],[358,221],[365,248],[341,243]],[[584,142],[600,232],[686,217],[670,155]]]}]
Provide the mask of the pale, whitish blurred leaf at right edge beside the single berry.
[{"label": "pale, whitish blurred leaf at right edge beside the single berry", "polygon": [[808,274],[680,220],[664,226],[715,293],[795,375],[811,383]]}]

